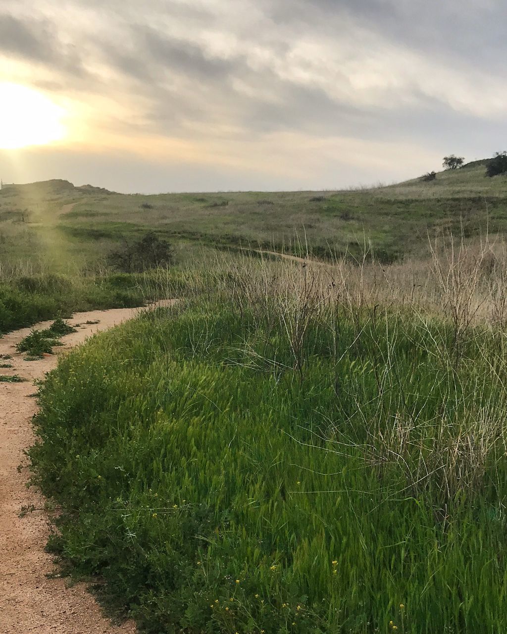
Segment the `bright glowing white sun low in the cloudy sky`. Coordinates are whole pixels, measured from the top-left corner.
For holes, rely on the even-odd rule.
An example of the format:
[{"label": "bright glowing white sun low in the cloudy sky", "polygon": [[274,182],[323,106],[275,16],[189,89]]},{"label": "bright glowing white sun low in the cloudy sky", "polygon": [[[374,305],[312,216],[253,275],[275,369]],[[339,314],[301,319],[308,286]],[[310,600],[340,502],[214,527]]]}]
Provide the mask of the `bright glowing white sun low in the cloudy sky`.
[{"label": "bright glowing white sun low in the cloudy sky", "polygon": [[0,149],[47,145],[65,136],[64,111],[27,86],[0,82]]}]

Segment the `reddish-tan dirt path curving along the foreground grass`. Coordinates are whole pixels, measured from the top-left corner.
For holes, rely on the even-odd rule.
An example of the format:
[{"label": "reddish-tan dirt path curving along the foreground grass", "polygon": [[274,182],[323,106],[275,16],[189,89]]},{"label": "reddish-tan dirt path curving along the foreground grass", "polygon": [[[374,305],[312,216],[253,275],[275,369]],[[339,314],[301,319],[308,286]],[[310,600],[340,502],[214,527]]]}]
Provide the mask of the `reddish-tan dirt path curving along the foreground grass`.
[{"label": "reddish-tan dirt path curving along the foreground grass", "polygon": [[[170,302],[162,302],[165,305]],[[77,346],[99,330],[136,316],[139,309],[113,309],[77,313],[72,324],[78,331],[63,337],[58,354]],[[96,321],[84,325],[85,321]],[[46,328],[51,321],[36,328]],[[58,357],[46,356],[40,361],[23,361],[15,345],[30,332],[24,328],[0,339],[0,354],[11,354],[12,368],[1,368],[0,374],[20,375],[23,383],[0,382],[0,633],[1,634],[133,634],[133,623],[113,626],[104,618],[84,584],[68,588],[64,579],[48,579],[54,570],[51,555],[44,552],[49,533],[44,511],[31,512],[20,518],[22,507],[41,508],[44,498],[34,489],[27,489],[29,472],[23,450],[34,441],[31,419],[37,411],[34,379],[53,370]],[[18,472],[18,465],[23,469]]]}]

